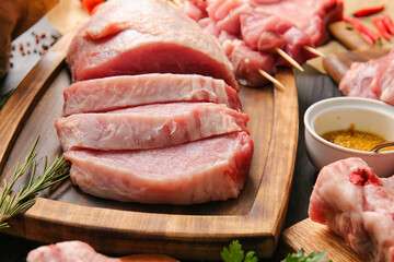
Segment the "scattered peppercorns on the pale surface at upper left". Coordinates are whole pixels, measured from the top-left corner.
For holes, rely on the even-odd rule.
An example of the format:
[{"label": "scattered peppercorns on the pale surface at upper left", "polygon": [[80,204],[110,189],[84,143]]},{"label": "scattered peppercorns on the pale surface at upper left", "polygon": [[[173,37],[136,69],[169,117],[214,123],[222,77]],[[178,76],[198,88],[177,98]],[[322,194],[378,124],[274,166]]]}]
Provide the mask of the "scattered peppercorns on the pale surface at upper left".
[{"label": "scattered peppercorns on the pale surface at upper left", "polygon": [[55,34],[50,34],[50,36],[48,36],[46,33],[37,34],[34,31],[32,31],[31,36],[32,36],[31,40],[13,43],[11,45],[11,56],[10,56],[11,68],[13,67],[12,59],[15,55],[14,53],[15,51],[19,51],[22,57],[34,53],[44,56],[60,37]]}]

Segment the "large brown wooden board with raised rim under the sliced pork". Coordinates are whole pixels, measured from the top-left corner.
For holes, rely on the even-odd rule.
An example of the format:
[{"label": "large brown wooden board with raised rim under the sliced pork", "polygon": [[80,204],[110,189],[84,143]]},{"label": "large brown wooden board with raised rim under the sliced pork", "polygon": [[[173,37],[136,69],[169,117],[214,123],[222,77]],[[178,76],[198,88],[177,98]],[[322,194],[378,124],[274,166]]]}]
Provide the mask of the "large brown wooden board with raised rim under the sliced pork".
[{"label": "large brown wooden board with raised rim under the sliced pork", "polygon": [[[63,62],[70,39],[62,37],[43,57],[0,111],[1,179],[11,176],[38,134],[38,170],[45,155],[61,154],[54,121],[71,83]],[[79,239],[108,254],[196,260],[219,260],[222,248],[239,239],[246,250],[270,257],[285,221],[299,133],[292,70],[281,69],[276,78],[286,90],[240,91],[255,152],[239,199],[192,206],[120,203],[84,194],[68,180],[43,192],[4,231],[45,243]]]}]

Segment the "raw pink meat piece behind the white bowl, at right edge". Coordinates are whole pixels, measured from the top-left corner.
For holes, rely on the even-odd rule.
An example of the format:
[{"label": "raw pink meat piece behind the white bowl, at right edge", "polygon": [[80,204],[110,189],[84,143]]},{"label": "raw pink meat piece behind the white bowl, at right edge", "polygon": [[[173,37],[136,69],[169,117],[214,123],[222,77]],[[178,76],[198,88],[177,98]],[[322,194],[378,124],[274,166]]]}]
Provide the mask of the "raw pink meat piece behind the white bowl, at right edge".
[{"label": "raw pink meat piece behind the white bowl, at right edge", "polygon": [[380,99],[394,105],[394,49],[368,62],[354,62],[339,83],[346,96]]}]

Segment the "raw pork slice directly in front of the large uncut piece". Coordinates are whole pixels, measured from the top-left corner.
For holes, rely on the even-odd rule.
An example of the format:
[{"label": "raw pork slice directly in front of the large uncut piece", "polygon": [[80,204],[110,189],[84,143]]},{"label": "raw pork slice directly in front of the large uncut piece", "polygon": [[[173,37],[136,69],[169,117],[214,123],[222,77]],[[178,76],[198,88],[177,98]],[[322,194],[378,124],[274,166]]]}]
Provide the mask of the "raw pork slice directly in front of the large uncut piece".
[{"label": "raw pork slice directly in front of the large uncut piece", "polygon": [[236,91],[197,74],[140,74],[77,82],[63,92],[63,116],[165,102],[212,102],[241,111]]}]

